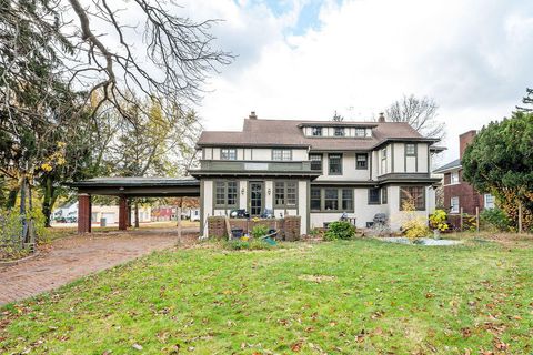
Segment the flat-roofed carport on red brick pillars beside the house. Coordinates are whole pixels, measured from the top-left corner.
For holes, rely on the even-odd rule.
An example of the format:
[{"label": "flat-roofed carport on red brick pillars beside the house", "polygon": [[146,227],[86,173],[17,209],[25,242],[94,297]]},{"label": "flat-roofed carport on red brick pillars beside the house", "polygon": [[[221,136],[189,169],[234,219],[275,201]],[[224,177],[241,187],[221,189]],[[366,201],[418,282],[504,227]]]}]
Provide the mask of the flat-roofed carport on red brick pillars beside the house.
[{"label": "flat-roofed carport on red brick pillars beside the house", "polygon": [[128,229],[130,197],[199,197],[194,178],[95,178],[68,184],[78,189],[78,233],[91,232],[92,196],[119,197],[119,230]]}]

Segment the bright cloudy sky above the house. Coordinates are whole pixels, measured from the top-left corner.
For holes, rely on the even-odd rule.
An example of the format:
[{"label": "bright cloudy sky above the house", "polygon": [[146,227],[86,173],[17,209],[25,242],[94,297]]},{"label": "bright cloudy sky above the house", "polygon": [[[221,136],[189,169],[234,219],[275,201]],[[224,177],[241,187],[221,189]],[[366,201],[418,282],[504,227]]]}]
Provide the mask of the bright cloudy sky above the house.
[{"label": "bright cloudy sky above the house", "polygon": [[457,135],[509,115],[533,87],[531,0],[189,0],[221,19],[215,45],[238,55],[197,108],[207,130],[259,119],[368,121],[402,95],[432,98]]}]

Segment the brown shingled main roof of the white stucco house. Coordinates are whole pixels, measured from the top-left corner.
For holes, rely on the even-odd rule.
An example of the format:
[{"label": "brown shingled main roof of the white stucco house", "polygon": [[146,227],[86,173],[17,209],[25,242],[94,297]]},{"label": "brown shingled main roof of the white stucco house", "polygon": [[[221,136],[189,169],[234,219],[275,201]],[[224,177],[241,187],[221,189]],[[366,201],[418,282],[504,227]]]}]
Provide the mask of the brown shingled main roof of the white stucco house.
[{"label": "brown shingled main roof of the white stucco house", "polygon": [[[310,138],[302,126],[342,125],[372,129],[372,138]],[[424,141],[434,143],[439,139],[424,138],[404,122],[333,122],[301,120],[245,119],[242,131],[203,131],[198,146],[301,146],[315,151],[370,150],[386,141]]]}]

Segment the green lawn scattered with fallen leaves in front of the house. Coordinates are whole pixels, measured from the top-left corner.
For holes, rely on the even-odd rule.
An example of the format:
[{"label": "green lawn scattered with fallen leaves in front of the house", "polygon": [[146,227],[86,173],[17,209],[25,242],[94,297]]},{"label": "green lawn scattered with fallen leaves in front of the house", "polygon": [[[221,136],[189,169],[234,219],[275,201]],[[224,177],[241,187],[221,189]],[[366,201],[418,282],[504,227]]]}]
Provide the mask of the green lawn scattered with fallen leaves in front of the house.
[{"label": "green lawn scattered with fallen leaves in front of the house", "polygon": [[159,252],[6,306],[0,353],[531,354],[532,265],[475,241]]}]

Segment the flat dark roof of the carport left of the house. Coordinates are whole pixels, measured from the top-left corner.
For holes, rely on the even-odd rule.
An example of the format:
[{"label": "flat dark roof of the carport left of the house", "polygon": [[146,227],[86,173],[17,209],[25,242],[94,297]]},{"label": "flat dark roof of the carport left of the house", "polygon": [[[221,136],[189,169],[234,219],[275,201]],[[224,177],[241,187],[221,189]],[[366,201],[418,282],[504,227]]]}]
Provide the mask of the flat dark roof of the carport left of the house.
[{"label": "flat dark roof of the carport left of the house", "polygon": [[68,183],[72,187],[83,186],[197,186],[200,182],[192,176],[159,178],[159,176],[132,176],[132,178],[94,178]]}]

